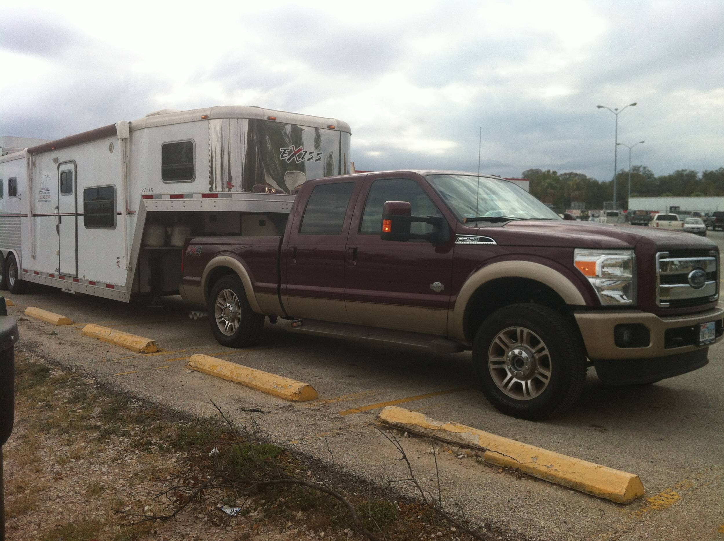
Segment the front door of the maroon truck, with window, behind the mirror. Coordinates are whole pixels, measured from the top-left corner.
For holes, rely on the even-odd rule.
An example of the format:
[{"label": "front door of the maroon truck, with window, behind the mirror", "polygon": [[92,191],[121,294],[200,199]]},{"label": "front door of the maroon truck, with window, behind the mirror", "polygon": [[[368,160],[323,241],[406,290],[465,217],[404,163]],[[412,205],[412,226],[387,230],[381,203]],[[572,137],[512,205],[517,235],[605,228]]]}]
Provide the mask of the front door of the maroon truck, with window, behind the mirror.
[{"label": "front door of the maroon truck, with window, behind the mirror", "polygon": [[[409,201],[413,216],[444,216],[432,188],[418,177],[370,175],[348,236],[345,305],[350,322],[445,336],[455,235],[446,243],[382,240],[385,201]],[[449,220],[448,220],[449,223]],[[413,223],[411,232],[432,227]]]}]

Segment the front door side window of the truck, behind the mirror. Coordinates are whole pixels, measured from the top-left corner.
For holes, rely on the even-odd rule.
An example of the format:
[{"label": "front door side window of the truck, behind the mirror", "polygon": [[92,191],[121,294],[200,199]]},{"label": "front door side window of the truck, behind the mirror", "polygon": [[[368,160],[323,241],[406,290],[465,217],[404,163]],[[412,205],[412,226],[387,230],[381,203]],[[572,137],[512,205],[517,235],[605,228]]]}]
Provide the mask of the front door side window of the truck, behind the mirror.
[{"label": "front door side window of the truck, behind the mirror", "polygon": [[[408,201],[412,206],[413,216],[442,216],[437,206],[414,180],[406,178],[375,180],[369,189],[362,214],[361,233],[379,235],[382,232],[382,206],[386,201]],[[420,222],[410,226],[410,232],[413,233],[429,233],[432,229],[432,225]]]}]

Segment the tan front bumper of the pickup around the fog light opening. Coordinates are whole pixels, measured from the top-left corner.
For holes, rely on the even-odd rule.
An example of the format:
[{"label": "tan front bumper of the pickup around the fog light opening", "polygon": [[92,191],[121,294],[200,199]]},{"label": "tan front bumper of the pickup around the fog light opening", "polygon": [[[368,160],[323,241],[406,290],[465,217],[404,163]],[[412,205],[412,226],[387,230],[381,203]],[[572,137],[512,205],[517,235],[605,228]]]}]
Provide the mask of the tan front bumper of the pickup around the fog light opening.
[{"label": "tan front bumper of the pickup around the fog light opening", "polygon": [[[574,314],[578,328],[584,338],[589,358],[596,360],[618,358],[654,358],[699,349],[698,345],[681,348],[664,348],[667,329],[690,327],[699,323],[713,322],[724,318],[724,309],[707,310],[702,314],[662,318],[656,314],[639,310],[578,312]],[[613,340],[613,330],[618,324],[640,323],[651,333],[651,342],[645,348],[619,348]],[[717,338],[717,342],[722,337]]]}]

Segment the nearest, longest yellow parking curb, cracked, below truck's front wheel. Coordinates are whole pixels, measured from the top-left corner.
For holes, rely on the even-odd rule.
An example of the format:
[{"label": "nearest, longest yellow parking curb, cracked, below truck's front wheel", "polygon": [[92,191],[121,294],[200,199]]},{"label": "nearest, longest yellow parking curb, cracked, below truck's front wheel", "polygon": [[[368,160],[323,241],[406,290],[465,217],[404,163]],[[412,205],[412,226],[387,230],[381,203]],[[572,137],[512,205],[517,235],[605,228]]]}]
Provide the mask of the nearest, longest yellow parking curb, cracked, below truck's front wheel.
[{"label": "nearest, longest yellow parking curb, cracked, below truck's front wheel", "polygon": [[561,455],[458,423],[442,423],[416,411],[388,406],[379,419],[392,427],[447,443],[484,450],[485,461],[523,471],[557,485],[574,488],[616,503],[631,503],[644,495],[638,475]]}]

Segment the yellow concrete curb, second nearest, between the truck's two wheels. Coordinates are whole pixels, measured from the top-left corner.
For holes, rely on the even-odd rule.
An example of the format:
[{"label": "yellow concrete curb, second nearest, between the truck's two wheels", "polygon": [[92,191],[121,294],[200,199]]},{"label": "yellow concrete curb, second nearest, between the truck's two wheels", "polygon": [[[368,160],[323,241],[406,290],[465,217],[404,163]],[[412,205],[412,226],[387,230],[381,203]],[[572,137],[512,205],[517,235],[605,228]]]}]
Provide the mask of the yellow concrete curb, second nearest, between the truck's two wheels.
[{"label": "yellow concrete curb, second nearest, between the truck's two wheels", "polygon": [[245,387],[251,387],[267,395],[274,395],[285,400],[306,402],[307,400],[319,398],[314,387],[308,383],[269,374],[269,372],[230,363],[229,361],[222,361],[220,358],[208,355],[192,355],[187,366],[192,370],[228,379]]}]

